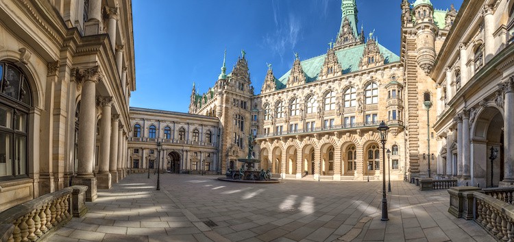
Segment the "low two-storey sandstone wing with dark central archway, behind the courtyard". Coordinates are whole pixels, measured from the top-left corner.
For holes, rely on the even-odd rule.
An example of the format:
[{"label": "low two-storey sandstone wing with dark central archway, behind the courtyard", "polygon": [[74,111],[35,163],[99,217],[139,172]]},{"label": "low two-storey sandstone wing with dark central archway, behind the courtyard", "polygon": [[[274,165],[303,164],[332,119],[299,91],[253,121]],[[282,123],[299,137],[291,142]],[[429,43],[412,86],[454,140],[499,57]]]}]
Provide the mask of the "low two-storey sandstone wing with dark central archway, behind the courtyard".
[{"label": "low two-storey sandstone wing with dark central archway, behind the courtyard", "polygon": [[131,107],[130,126],[127,168],[132,172],[154,172],[159,165],[170,173],[219,173],[217,118]]}]

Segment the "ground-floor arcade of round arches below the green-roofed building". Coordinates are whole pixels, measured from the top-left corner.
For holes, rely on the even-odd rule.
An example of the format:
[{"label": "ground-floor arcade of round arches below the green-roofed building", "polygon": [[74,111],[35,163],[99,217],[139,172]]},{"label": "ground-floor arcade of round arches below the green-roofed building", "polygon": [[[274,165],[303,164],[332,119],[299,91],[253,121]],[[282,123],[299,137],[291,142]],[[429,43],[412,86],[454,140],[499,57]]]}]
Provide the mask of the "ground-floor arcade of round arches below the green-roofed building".
[{"label": "ground-floor arcade of round arches below the green-roofed building", "polygon": [[[397,151],[397,138],[400,137],[391,138],[386,148],[395,147]],[[398,160],[402,160],[399,152],[391,159],[386,158],[385,172],[391,167],[391,180],[403,179]],[[308,176],[315,180],[365,180],[369,176],[370,180],[376,180],[384,173],[382,145],[376,132],[362,137],[348,133],[341,138],[326,135],[319,139],[290,138],[285,142],[266,140],[260,143],[260,169],[292,179]]]}]

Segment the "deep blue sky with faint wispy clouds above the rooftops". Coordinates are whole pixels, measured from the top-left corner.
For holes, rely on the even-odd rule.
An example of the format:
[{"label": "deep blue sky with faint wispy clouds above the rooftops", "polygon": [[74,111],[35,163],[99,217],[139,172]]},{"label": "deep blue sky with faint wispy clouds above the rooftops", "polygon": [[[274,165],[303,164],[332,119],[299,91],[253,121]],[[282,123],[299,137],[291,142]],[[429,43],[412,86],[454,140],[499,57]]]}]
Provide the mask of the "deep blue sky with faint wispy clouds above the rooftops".
[{"label": "deep blue sky with faint wispy clouds above the rooftops", "polygon": [[[412,1],[411,1],[412,2]],[[380,44],[400,52],[401,0],[357,0],[358,28],[375,29]],[[432,0],[456,9],[462,0]],[[341,25],[341,0],[133,0],[136,91],[130,106],[187,112],[193,82],[200,93],[217,81],[223,51],[227,73],[245,49],[260,93],[273,65],[276,77],[326,53]]]}]

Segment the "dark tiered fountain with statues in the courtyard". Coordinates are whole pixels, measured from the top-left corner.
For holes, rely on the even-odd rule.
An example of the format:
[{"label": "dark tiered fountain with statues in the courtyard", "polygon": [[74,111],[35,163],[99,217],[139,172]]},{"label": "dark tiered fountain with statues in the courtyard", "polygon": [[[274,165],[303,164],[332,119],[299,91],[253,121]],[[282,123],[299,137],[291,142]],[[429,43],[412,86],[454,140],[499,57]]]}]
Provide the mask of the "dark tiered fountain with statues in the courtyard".
[{"label": "dark tiered fountain with statues in the courtyard", "polygon": [[271,173],[269,170],[265,171],[261,169],[257,171],[255,169],[255,163],[260,162],[260,160],[254,158],[252,156],[254,145],[256,142],[252,135],[248,136],[248,155],[247,158],[238,158],[238,162],[243,162],[244,164],[241,166],[241,169],[232,170],[228,169],[226,178],[218,178],[218,180],[229,181],[229,182],[258,182],[258,183],[278,183],[278,180],[271,179]]}]

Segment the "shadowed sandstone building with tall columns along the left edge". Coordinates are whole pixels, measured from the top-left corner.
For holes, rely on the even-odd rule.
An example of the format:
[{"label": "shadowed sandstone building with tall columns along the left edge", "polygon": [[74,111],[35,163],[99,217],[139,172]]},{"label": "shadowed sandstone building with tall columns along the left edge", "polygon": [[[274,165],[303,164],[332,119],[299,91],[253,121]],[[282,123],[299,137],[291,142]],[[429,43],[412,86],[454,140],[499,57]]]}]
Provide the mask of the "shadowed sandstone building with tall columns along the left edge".
[{"label": "shadowed sandstone building with tall columns along the left edge", "polygon": [[0,210],[126,172],[131,1],[0,1]]}]

